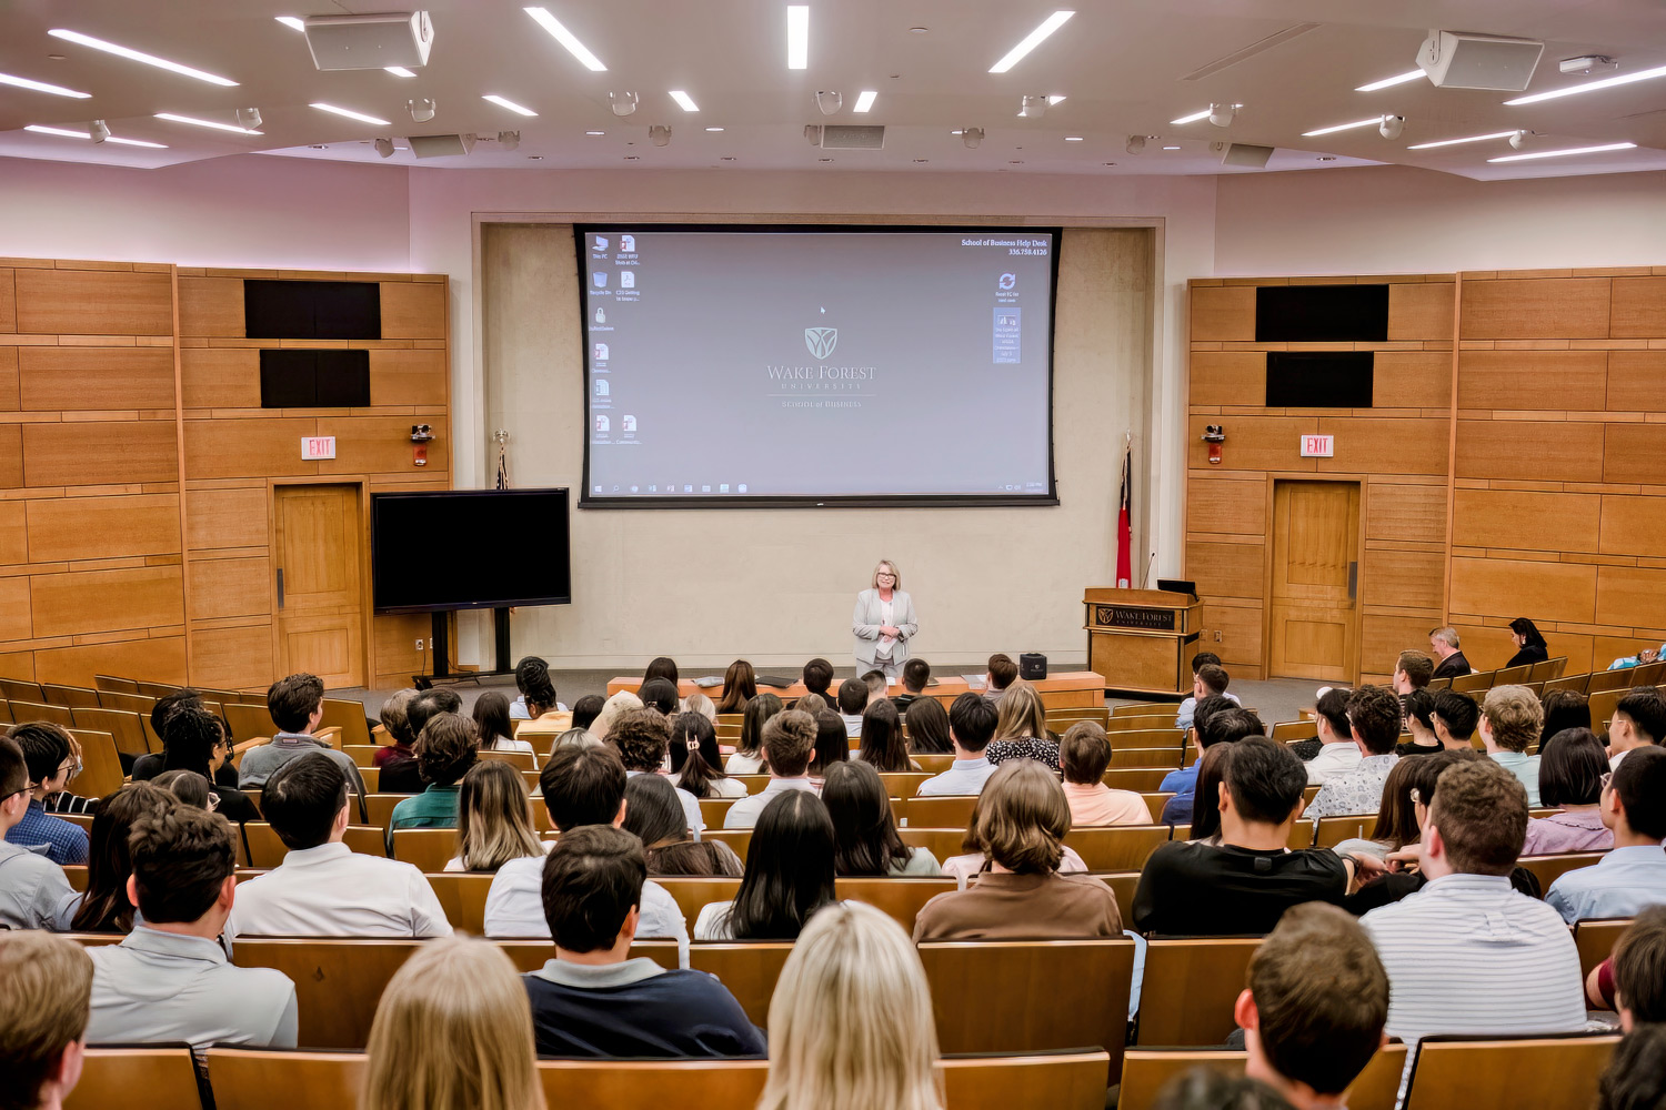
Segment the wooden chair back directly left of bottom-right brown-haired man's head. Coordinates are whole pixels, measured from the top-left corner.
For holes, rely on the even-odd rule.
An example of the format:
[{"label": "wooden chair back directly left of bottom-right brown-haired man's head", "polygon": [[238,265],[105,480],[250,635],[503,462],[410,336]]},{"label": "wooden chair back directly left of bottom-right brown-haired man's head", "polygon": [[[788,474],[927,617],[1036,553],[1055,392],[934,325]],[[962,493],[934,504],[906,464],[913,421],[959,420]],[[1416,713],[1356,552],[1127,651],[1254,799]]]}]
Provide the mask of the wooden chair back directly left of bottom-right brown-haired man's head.
[{"label": "wooden chair back directly left of bottom-right brown-haired man's head", "polygon": [[1140,992],[1138,1043],[1225,1045],[1236,1028],[1233,1003],[1258,947],[1259,937],[1150,942],[1145,982],[1153,989]]}]

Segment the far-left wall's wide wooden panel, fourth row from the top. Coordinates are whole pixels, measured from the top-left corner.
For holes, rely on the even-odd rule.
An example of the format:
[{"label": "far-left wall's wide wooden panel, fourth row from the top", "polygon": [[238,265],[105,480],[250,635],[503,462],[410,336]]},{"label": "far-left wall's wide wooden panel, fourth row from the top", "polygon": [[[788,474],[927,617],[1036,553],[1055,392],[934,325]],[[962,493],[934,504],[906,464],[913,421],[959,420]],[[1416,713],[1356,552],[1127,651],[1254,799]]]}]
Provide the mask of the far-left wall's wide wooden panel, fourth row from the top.
[{"label": "far-left wall's wide wooden panel, fourth row from the top", "polygon": [[53,498],[28,503],[28,556],[33,562],[178,554],[178,494]]}]

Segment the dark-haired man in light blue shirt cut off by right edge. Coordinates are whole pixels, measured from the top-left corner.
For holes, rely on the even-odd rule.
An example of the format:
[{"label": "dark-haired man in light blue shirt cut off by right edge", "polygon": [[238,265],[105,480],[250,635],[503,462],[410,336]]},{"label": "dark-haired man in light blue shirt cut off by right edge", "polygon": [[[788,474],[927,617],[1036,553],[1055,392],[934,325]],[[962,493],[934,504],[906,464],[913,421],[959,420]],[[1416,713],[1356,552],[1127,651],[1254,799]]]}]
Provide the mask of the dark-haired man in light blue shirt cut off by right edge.
[{"label": "dark-haired man in light blue shirt cut off by right edge", "polygon": [[1591,867],[1563,872],[1544,902],[1573,925],[1588,917],[1636,917],[1666,904],[1666,749],[1639,747],[1603,787],[1603,824],[1614,847]]}]

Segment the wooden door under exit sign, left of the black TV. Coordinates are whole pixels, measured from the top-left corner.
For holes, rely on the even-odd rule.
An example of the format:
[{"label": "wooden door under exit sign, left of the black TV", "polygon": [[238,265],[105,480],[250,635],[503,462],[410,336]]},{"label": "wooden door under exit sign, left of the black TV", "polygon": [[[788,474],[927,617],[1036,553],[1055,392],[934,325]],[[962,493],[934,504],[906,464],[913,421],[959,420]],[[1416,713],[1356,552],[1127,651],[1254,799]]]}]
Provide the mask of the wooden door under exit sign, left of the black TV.
[{"label": "wooden door under exit sign, left of the black TV", "polygon": [[278,674],[365,684],[365,523],[358,486],[277,486]]}]

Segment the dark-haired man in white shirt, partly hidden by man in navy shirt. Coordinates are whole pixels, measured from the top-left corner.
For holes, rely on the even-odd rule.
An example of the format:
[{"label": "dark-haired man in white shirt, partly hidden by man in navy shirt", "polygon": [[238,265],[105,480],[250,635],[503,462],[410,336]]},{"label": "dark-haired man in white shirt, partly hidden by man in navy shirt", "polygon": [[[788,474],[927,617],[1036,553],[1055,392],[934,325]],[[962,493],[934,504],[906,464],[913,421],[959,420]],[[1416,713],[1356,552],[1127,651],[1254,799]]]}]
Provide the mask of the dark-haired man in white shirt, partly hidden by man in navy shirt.
[{"label": "dark-haired man in white shirt, partly hidden by man in navy shirt", "polygon": [[[625,764],[611,747],[560,747],[538,772],[538,789],[550,824],[563,835],[585,825],[625,822]],[[511,859],[498,867],[486,890],[488,937],[548,937],[543,917],[543,857]],[[688,967],[688,922],[676,899],[650,882],[641,890],[636,935],[676,940],[680,965]]]}]

